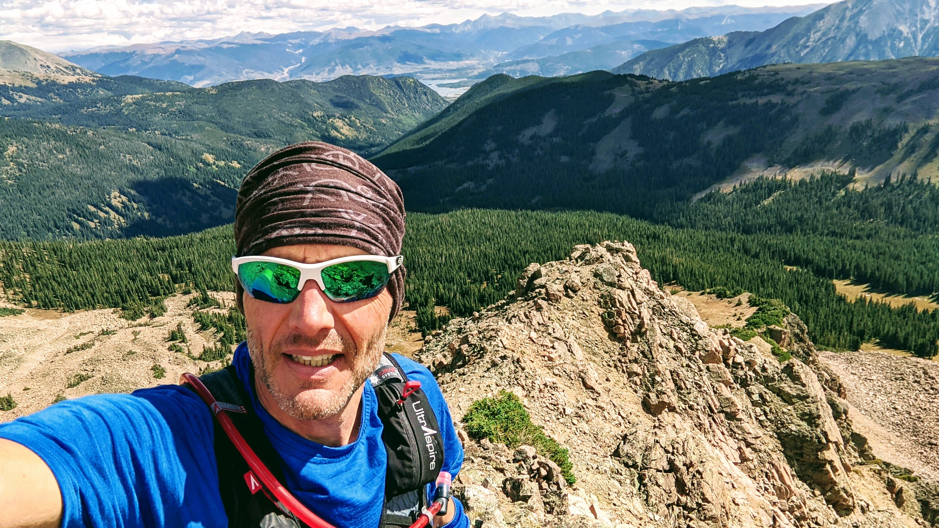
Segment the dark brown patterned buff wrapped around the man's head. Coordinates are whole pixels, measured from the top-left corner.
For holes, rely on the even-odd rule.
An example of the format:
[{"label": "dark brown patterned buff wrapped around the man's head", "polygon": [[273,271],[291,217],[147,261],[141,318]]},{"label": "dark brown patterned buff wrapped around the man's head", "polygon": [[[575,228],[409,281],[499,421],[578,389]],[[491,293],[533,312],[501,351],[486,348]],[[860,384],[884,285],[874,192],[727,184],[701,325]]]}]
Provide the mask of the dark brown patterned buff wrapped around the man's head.
[{"label": "dark brown patterned buff wrapped around the man's head", "polygon": [[[401,189],[346,148],[313,141],[291,145],[257,163],[241,182],[235,207],[237,256],[304,243],[396,256],[404,235]],[[404,302],[405,273],[401,266],[388,283],[391,318]],[[243,290],[235,283],[241,306]]]}]

